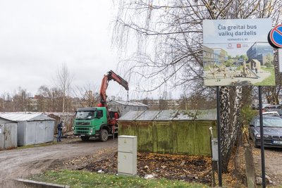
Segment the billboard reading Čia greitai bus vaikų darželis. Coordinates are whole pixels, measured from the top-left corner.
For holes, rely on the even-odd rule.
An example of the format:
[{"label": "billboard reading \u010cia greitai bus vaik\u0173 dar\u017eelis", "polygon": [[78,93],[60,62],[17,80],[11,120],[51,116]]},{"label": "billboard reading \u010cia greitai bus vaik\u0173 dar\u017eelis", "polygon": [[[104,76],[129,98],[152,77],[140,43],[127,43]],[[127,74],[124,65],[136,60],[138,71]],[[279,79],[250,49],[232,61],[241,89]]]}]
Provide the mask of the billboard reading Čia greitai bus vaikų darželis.
[{"label": "billboard reading \u010cia greitai bus vaik\u0173 dar\u017eelis", "polygon": [[275,85],[269,30],[269,18],[204,20],[204,84]]}]

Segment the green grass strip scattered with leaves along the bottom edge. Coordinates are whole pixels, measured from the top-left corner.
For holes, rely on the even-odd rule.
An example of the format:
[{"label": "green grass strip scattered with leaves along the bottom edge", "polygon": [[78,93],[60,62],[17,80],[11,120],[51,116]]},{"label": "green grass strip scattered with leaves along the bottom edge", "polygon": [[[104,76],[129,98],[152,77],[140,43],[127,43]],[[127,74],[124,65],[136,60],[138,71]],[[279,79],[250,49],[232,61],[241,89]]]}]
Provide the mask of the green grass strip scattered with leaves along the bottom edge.
[{"label": "green grass strip scattered with leaves along the bottom edge", "polygon": [[145,180],[141,177],[90,173],[82,170],[50,170],[42,175],[30,177],[30,180],[66,184],[71,187],[209,187],[177,180]]}]

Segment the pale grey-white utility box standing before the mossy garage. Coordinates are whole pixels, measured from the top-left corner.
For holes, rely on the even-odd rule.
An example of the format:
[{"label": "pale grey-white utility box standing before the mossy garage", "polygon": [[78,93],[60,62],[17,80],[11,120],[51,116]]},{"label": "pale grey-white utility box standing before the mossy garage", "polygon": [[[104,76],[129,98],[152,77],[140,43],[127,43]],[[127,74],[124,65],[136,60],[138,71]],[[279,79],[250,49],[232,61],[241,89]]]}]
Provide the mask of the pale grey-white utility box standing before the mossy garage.
[{"label": "pale grey-white utility box standing before the mossy garage", "polygon": [[137,174],[137,137],[118,136],[118,174]]}]

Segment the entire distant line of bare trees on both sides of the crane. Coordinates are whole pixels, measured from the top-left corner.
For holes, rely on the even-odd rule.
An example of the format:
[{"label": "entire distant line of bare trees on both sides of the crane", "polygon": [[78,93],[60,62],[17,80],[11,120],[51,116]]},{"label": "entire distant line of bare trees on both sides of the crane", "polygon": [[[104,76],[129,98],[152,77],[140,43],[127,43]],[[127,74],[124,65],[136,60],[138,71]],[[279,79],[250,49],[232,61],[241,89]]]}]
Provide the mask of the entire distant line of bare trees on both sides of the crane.
[{"label": "entire distant line of bare trees on both sides of the crane", "polygon": [[[86,88],[84,88],[86,89]],[[99,93],[92,90],[77,89],[74,96],[65,96],[57,87],[39,87],[37,94],[32,96],[27,89],[21,87],[11,93],[0,94],[1,112],[74,112],[80,107],[94,107],[99,103]],[[118,97],[110,96],[109,100],[121,100]],[[65,105],[63,106],[63,101]],[[150,110],[192,110],[216,108],[216,101],[204,96],[180,96],[180,99],[132,99],[142,104],[149,105]],[[64,108],[64,110],[63,110]]]}]

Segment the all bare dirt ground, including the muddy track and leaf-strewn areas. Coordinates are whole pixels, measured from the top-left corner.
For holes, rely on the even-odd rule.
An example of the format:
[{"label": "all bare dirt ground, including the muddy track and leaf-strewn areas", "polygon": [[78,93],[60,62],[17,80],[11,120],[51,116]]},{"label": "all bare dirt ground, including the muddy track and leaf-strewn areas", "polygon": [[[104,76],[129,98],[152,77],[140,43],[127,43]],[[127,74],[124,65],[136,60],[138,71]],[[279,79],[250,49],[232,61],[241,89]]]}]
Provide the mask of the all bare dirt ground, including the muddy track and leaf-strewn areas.
[{"label": "all bare dirt ground, including the muddy track and leaf-strewn areas", "polygon": [[[78,138],[63,139],[59,144],[35,146],[27,149],[0,151],[0,187],[6,180],[27,178],[44,170],[89,170],[93,172],[117,173],[117,139],[107,142],[90,140],[82,142]],[[257,175],[260,175],[260,150],[253,150]],[[266,175],[274,182],[282,184],[282,150],[266,149]],[[173,156],[168,154],[138,153],[137,172],[140,177],[166,177],[173,180],[212,184],[210,158]],[[232,169],[238,167],[231,165]],[[235,183],[231,174],[223,178],[230,180],[223,184],[230,187]],[[242,177],[244,178],[244,177]],[[240,181],[240,180],[239,180]],[[5,184],[4,187],[7,187]],[[2,184],[3,187],[3,184]],[[233,187],[233,186],[232,186]],[[239,187],[242,187],[241,185]]]}]

